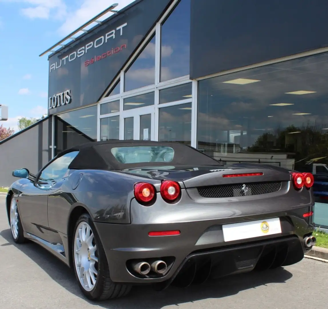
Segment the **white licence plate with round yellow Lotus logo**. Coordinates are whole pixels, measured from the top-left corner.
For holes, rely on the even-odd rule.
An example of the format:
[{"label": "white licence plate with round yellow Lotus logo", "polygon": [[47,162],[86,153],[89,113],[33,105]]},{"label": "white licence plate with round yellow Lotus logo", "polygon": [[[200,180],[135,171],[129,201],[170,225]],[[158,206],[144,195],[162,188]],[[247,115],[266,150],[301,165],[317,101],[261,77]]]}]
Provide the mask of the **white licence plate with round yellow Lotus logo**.
[{"label": "white licence plate with round yellow Lotus logo", "polygon": [[279,218],[224,224],[224,241],[233,241],[281,233]]}]

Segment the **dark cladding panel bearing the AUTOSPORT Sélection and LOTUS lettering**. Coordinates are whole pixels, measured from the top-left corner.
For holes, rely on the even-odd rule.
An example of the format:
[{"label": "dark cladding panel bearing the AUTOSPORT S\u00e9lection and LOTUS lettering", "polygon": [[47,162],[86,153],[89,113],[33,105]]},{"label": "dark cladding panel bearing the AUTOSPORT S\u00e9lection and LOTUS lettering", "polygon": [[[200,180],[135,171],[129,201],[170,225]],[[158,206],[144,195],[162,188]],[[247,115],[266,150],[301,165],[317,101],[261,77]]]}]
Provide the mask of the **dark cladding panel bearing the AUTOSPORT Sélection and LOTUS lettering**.
[{"label": "dark cladding panel bearing the AUTOSPORT S\u00e9lection and LOTUS lettering", "polygon": [[[63,104],[50,108],[49,113],[97,102],[171,2],[136,2],[63,52],[51,56],[49,97],[59,94],[56,101],[60,98]],[[68,90],[71,92],[65,96]]]}]

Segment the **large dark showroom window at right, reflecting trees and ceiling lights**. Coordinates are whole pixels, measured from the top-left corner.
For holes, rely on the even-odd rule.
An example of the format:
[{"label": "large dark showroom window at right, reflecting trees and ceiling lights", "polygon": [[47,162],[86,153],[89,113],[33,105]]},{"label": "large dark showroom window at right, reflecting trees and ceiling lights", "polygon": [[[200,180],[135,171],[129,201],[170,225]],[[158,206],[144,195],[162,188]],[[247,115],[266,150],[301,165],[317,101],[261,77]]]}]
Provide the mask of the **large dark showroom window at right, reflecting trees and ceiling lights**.
[{"label": "large dark showroom window at right, reflecting trees and ceiling lights", "polygon": [[197,148],[225,162],[327,164],[327,77],[322,53],[199,81]]}]

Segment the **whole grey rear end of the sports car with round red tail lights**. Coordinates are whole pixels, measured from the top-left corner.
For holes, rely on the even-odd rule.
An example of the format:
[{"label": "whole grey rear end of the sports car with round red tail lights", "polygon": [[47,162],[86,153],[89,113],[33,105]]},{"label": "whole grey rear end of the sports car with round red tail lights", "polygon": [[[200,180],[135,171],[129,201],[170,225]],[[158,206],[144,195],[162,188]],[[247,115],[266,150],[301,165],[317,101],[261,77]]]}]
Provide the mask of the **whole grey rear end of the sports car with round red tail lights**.
[{"label": "whole grey rear end of the sports car with round red tail lights", "polygon": [[114,282],[188,286],[294,264],[315,244],[312,174],[261,165],[186,173],[140,177],[131,224],[108,235],[97,223]]}]

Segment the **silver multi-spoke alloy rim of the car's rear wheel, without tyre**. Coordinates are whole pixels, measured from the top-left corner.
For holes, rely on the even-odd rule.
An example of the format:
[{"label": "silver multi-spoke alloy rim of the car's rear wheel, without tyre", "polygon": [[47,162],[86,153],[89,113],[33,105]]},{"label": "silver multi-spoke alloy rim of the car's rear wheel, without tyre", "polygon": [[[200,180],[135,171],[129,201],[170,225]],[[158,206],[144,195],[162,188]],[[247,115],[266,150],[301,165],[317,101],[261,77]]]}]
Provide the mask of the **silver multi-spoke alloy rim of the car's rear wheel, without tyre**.
[{"label": "silver multi-spoke alloy rim of the car's rear wheel, without tyre", "polygon": [[98,276],[97,245],[90,225],[82,221],[74,237],[75,269],[80,283],[86,291],[94,288]]}]

